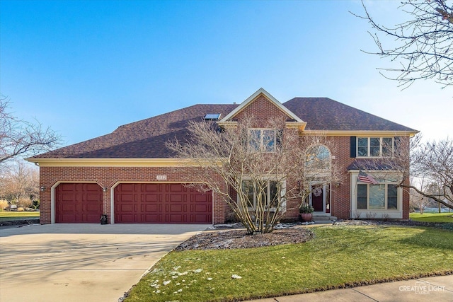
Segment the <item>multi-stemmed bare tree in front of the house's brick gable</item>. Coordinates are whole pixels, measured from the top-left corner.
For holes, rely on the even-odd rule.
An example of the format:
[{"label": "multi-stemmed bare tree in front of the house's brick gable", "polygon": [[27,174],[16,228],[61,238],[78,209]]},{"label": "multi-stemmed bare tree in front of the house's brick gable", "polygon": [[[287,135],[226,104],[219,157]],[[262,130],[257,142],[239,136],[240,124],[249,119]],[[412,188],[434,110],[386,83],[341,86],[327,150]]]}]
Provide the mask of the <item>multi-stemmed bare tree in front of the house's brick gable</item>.
[{"label": "multi-stemmed bare tree in front of the house's brick gable", "polygon": [[167,146],[189,165],[200,167],[202,173],[194,175],[203,184],[198,190],[222,196],[248,233],[268,233],[292,204],[301,205],[310,182],[322,186],[339,179],[340,173],[330,153],[316,153],[318,146],[334,149],[326,137],[299,137],[284,121],[270,120],[264,132],[253,124],[253,117],[223,129],[213,122],[190,122],[188,141]]}]

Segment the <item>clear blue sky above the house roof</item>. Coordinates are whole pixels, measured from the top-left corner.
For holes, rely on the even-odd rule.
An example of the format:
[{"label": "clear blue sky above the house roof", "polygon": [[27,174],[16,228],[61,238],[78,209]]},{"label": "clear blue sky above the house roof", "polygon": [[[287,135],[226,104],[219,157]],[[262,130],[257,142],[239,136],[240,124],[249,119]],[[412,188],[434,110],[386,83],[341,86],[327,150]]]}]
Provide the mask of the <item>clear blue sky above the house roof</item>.
[{"label": "clear blue sky above the house roof", "polygon": [[[401,21],[398,1],[367,1]],[[328,97],[452,137],[451,88],[401,91],[377,67],[360,1],[0,0],[0,92],[65,145],[197,103],[241,103],[263,87],[282,103]]]}]

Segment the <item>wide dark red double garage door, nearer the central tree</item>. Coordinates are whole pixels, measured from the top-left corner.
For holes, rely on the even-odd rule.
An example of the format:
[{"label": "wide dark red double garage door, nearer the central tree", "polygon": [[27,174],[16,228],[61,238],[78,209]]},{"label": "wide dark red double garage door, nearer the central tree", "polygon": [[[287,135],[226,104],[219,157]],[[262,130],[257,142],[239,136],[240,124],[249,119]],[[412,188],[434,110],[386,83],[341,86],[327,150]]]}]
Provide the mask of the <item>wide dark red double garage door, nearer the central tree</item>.
[{"label": "wide dark red double garage door, nearer the central tree", "polygon": [[115,187],[115,223],[212,223],[212,192],[180,183]]}]

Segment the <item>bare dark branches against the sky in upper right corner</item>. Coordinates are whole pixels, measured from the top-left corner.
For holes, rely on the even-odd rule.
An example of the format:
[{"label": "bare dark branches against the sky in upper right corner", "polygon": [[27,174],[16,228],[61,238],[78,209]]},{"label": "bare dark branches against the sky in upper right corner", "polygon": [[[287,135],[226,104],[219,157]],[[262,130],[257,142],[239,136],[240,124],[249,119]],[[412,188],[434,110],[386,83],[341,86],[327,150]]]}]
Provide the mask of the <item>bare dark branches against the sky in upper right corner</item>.
[{"label": "bare dark branches against the sky in upper right corner", "polygon": [[[374,21],[365,4],[363,18],[372,26],[372,36],[379,52],[366,52],[399,62],[399,68],[381,68],[387,79],[400,82],[407,88],[419,79],[434,79],[444,87],[453,83],[453,9],[445,0],[402,1],[401,10],[408,20],[393,26]],[[390,37],[384,45],[382,36]],[[385,39],[384,39],[385,40]],[[389,76],[396,73],[398,76]]]}]

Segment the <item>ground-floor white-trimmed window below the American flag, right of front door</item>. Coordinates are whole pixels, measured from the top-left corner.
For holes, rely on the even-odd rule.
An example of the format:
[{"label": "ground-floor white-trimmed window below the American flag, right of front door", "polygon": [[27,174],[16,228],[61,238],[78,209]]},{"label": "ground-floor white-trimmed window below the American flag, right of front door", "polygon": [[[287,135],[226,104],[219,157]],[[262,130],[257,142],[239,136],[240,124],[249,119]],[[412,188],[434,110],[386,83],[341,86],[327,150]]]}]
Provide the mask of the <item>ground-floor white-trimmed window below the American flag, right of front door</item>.
[{"label": "ground-floor white-trimmed window below the American flag, right of front door", "polygon": [[357,209],[398,209],[398,188],[394,184],[357,184]]}]

